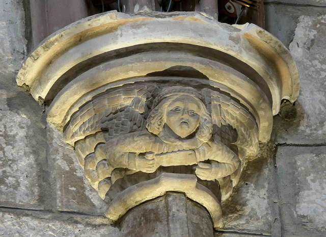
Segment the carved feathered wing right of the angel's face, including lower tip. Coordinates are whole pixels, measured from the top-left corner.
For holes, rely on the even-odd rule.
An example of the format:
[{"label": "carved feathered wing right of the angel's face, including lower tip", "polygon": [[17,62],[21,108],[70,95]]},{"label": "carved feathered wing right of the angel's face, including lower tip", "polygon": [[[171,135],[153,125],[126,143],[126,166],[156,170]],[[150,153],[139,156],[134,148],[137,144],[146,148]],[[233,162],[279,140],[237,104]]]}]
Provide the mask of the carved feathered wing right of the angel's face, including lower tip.
[{"label": "carved feathered wing right of the angel's face, including lower tip", "polygon": [[[207,104],[211,108],[213,124],[218,128],[215,130],[219,130],[218,136],[214,138],[221,139],[221,142],[224,142],[227,146],[234,144],[240,148],[239,153],[244,153],[239,154],[242,163],[247,154],[256,154],[258,152],[259,135],[254,117],[242,105],[227,95],[210,89],[204,89],[203,93],[208,94],[206,97],[210,98]],[[228,141],[229,144],[227,144]],[[239,165],[232,175],[219,179],[223,200],[227,199],[232,193],[232,188],[239,180],[242,167]]]}]

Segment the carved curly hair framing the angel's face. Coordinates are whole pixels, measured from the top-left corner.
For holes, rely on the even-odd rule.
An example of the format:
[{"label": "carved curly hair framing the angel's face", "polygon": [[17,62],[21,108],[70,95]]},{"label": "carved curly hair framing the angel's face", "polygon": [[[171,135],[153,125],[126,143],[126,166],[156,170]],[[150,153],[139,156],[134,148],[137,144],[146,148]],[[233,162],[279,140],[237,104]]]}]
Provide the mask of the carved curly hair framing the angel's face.
[{"label": "carved curly hair framing the angel's face", "polygon": [[[192,90],[194,89],[192,88]],[[150,112],[147,118],[148,131],[150,131],[155,135],[158,135],[161,132],[161,130],[163,129],[166,123],[165,115],[168,106],[174,99],[178,98],[181,95],[192,96],[193,98],[195,98],[200,102],[199,104],[202,110],[202,115],[200,118],[199,128],[196,132],[196,137],[202,142],[207,142],[211,138],[212,130],[213,130],[213,122],[212,122],[211,115],[209,114],[203,101],[199,99],[198,96],[196,96],[194,93],[186,93],[184,91],[178,94],[167,95],[159,101],[159,103],[155,106],[154,109],[152,109],[152,111]]]}]

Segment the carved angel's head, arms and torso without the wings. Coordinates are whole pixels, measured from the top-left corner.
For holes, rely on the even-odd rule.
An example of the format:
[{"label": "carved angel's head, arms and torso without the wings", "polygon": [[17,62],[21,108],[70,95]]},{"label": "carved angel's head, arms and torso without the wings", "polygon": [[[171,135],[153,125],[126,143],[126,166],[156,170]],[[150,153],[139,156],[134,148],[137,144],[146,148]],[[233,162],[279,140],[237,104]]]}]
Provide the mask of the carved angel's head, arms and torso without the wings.
[{"label": "carved angel's head, arms and torso without the wings", "polygon": [[198,164],[196,175],[203,180],[231,175],[239,158],[227,146],[211,139],[213,123],[201,97],[191,87],[163,89],[147,118],[147,129],[111,139],[97,152],[105,154],[111,167],[136,172]]}]

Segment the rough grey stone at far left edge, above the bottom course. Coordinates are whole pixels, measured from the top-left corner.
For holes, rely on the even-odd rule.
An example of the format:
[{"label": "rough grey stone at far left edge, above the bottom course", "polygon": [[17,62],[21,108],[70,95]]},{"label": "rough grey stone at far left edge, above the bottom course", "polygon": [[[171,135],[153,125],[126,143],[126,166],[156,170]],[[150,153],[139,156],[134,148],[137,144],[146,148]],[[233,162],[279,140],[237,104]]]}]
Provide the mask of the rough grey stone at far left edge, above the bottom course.
[{"label": "rough grey stone at far left edge, above the bottom course", "polygon": [[15,84],[26,54],[21,1],[0,1],[0,205],[42,209],[45,117]]}]

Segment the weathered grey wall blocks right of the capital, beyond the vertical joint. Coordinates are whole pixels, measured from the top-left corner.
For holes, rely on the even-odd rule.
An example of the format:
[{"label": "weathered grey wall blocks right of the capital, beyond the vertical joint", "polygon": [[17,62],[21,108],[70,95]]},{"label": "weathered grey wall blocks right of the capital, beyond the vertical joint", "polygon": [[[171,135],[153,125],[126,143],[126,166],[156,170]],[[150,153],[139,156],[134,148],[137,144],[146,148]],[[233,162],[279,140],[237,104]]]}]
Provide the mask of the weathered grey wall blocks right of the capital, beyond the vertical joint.
[{"label": "weathered grey wall blocks right of the capital, beyond the vertical joint", "polygon": [[325,236],[326,1],[266,2],[266,29],[290,49],[301,79],[296,118],[274,119],[281,232]]}]

